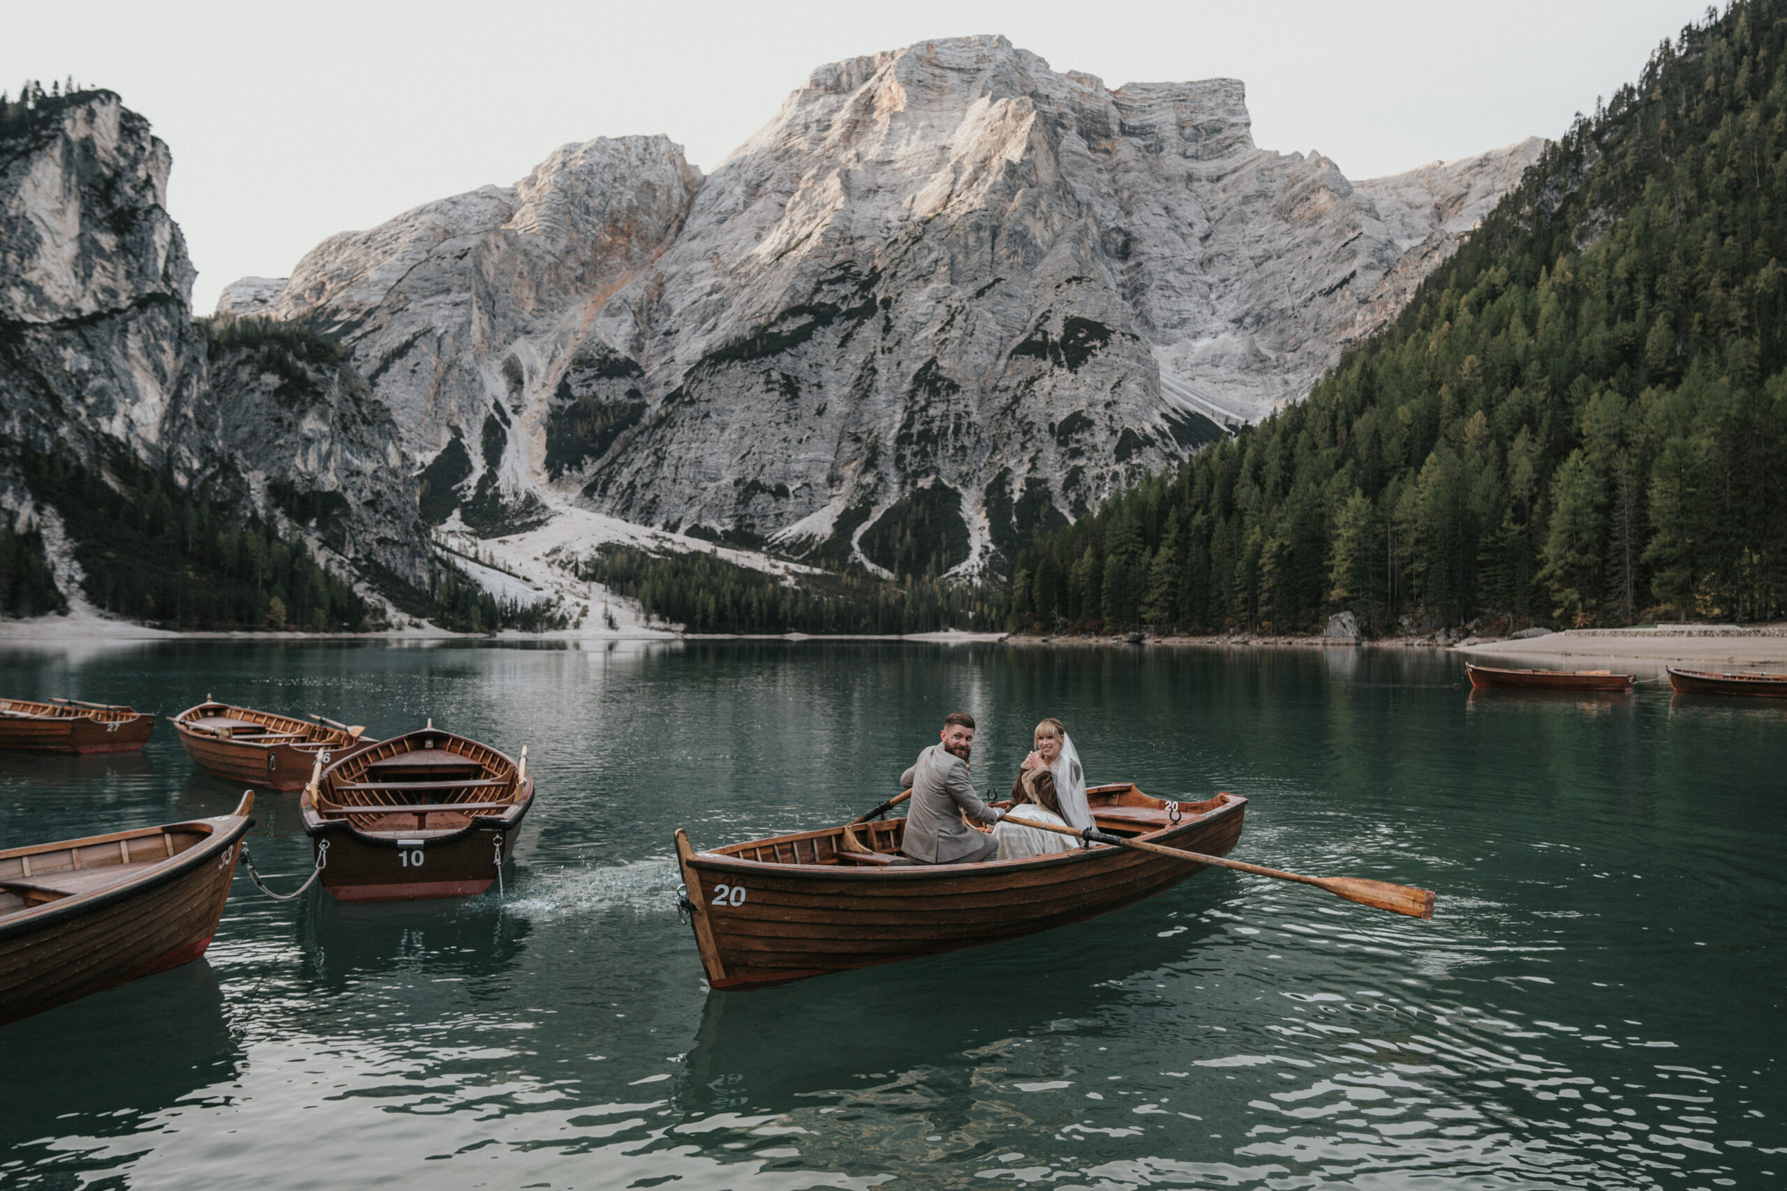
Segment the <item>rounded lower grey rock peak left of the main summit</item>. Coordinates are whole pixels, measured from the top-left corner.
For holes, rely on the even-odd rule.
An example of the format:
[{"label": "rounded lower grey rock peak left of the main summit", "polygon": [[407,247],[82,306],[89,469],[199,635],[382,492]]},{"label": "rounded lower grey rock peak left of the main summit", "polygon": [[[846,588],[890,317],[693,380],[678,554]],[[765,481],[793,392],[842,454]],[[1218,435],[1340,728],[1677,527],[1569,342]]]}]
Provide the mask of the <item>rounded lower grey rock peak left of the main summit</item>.
[{"label": "rounded lower grey rock peak left of the main summit", "polygon": [[302,318],[336,337],[407,452],[440,464],[422,477],[427,507],[463,502],[474,523],[511,523],[543,473],[563,471],[547,420],[615,387],[583,380],[609,355],[590,321],[674,239],[701,182],[661,136],[566,145],[513,187],[334,236],[277,296],[247,279],[218,309]]}]

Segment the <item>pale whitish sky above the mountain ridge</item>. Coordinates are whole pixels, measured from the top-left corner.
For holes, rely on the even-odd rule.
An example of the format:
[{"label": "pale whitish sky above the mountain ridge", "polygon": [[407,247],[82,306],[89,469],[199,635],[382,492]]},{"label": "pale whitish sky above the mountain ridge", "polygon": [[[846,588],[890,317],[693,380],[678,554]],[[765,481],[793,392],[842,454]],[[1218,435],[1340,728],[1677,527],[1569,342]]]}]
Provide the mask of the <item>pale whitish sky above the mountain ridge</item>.
[{"label": "pale whitish sky above the mountain ridge", "polygon": [[1004,34],[1108,87],[1231,77],[1254,143],[1351,179],[1558,136],[1705,0],[11,4],[0,86],[118,91],[173,150],[193,307],[320,239],[568,141],[663,132],[704,171],[822,62]]}]

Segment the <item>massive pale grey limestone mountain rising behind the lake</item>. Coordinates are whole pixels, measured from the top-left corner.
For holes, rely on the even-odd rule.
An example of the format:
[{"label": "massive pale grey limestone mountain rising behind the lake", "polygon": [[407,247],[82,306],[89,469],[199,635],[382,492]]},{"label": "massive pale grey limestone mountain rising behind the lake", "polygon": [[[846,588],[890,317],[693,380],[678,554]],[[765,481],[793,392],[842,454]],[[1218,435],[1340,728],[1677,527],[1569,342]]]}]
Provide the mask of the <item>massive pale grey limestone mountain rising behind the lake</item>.
[{"label": "massive pale grey limestone mountain rising behind the lake", "polygon": [[960,37],[817,70],[706,180],[566,146],[220,309],[341,336],[431,520],[575,502],[967,573],[1301,398],[1537,148],[1353,184],[1254,146],[1237,80]]}]

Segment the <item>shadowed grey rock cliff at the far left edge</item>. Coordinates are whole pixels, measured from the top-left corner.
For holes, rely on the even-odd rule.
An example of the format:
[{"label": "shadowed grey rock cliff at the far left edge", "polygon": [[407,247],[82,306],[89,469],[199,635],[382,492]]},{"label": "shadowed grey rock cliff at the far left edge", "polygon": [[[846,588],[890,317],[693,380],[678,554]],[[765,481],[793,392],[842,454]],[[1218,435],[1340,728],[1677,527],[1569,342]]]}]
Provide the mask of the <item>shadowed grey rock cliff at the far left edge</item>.
[{"label": "shadowed grey rock cliff at the far left edge", "polygon": [[365,382],[264,343],[207,343],[193,323],[170,164],[111,91],[45,96],[0,123],[0,504],[43,512],[21,479],[30,455],[89,470],[127,457],[275,521],[284,505],[345,507],[327,530],[288,523],[425,582],[416,480]]}]

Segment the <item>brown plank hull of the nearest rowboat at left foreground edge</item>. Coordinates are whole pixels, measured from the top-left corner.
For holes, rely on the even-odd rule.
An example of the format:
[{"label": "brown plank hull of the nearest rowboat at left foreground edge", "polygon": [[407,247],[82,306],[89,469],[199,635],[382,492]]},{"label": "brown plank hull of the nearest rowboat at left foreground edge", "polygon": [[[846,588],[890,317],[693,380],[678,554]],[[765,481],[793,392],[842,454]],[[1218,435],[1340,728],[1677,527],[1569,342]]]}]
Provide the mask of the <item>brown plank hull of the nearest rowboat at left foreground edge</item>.
[{"label": "brown plank hull of the nearest rowboat at left foreground edge", "polygon": [[[102,855],[161,834],[200,829],[206,839],[139,879],[0,920],[0,1023],[18,1021],[102,989],[166,971],[206,954],[236,877],[252,800],[238,814],[82,841]],[[150,845],[152,846],[152,845]],[[9,854],[11,855],[11,854]],[[0,857],[0,886],[21,866]]]}]

